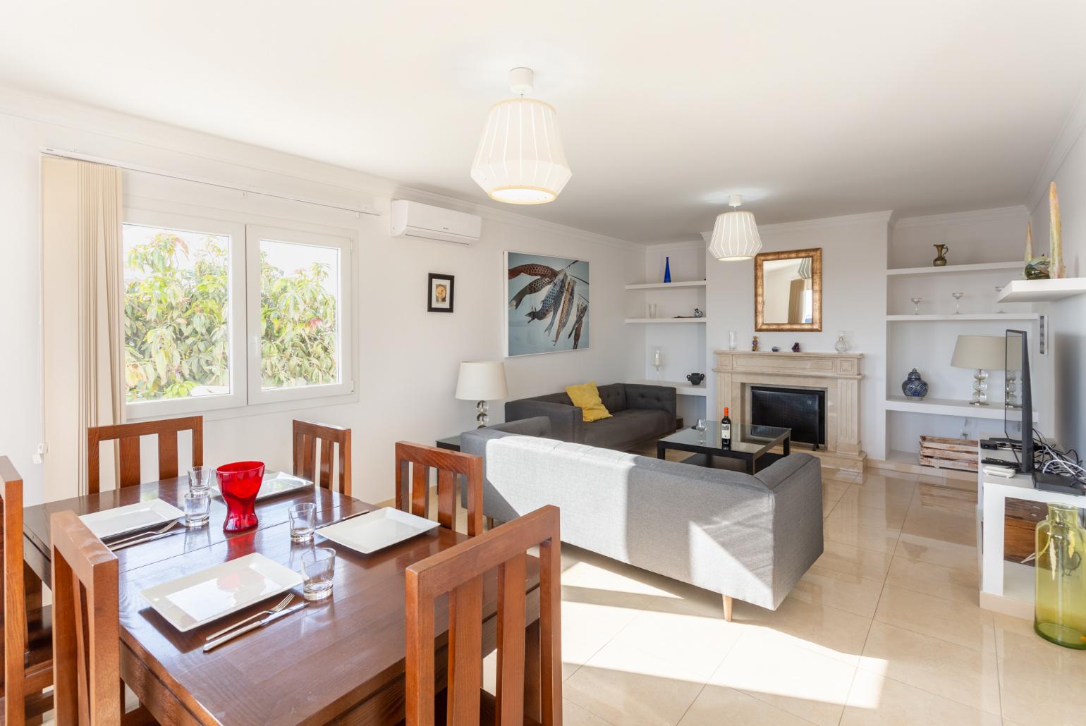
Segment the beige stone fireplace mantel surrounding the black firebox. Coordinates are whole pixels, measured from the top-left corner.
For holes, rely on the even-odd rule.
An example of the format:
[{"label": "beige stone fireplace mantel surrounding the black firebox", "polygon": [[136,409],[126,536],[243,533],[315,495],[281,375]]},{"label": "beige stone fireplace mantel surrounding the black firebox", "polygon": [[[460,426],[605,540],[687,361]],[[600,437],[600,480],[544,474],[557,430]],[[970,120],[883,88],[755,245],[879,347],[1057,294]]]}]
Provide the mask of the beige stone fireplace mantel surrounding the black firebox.
[{"label": "beige stone fireplace mantel surrounding the black firebox", "polygon": [[825,390],[828,466],[862,469],[860,445],[860,364],[862,353],[772,353],[714,351],[717,365],[717,417],[730,410],[732,421],[750,422],[752,385]]}]

